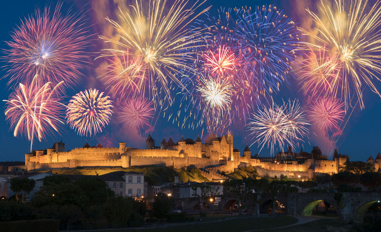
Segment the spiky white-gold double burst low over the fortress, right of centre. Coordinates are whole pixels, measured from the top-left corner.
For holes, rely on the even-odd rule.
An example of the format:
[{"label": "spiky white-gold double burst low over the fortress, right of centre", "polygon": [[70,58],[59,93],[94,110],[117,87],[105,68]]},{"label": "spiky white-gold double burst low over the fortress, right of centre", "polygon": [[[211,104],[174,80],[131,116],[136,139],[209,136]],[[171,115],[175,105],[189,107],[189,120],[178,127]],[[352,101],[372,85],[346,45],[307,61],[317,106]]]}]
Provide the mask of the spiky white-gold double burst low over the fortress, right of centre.
[{"label": "spiky white-gold double burst low over the fortress, right of centre", "polygon": [[285,145],[290,145],[293,149],[296,144],[303,141],[308,134],[307,125],[309,123],[304,112],[300,110],[298,101],[294,100],[291,103],[289,100],[280,106],[273,104],[270,108],[258,110],[247,126],[258,147],[262,150],[267,145],[267,148],[271,149],[271,154],[274,154],[275,147],[283,151]]}]

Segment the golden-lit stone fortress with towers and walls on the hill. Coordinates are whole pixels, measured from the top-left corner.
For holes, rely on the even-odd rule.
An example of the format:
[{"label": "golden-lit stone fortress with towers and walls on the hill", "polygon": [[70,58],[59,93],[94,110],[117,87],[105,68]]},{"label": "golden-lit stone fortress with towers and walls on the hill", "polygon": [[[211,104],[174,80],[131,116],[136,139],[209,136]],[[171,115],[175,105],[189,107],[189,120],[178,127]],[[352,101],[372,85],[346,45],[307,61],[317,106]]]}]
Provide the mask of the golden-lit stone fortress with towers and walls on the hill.
[{"label": "golden-lit stone fortress with towers and walls on the hill", "polygon": [[[54,149],[55,148],[55,149]],[[35,154],[25,155],[25,165],[28,171],[38,169],[60,169],[76,167],[123,167],[161,165],[182,168],[194,165],[203,171],[218,176],[221,172],[232,172],[234,168],[254,166],[260,176],[298,176],[311,178],[318,173],[336,173],[346,158],[334,160],[315,160],[312,155],[304,159],[287,162],[277,162],[275,159],[258,158],[251,156],[246,146],[243,156],[238,149],[233,148],[233,136],[216,137],[210,135],[205,143],[200,138],[196,141],[182,138],[174,143],[163,139],[160,147],[155,147],[155,140],[151,136],[146,141],[147,149],[126,147],[126,143],[119,143],[119,147],[103,148],[86,146],[64,151],[64,143],[54,143],[53,148],[38,150]],[[290,155],[290,154],[288,154]],[[295,156],[295,155],[294,155]],[[373,159],[373,165],[381,163],[381,155]],[[378,159],[380,158],[380,159]],[[11,167],[10,167],[11,168]],[[376,168],[376,167],[375,167]],[[212,176],[213,176],[212,175]]]}]

